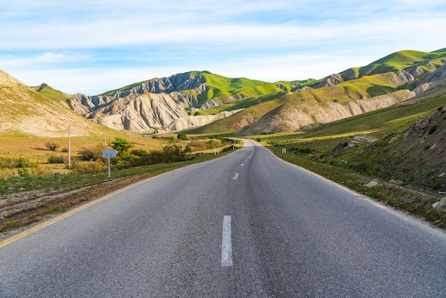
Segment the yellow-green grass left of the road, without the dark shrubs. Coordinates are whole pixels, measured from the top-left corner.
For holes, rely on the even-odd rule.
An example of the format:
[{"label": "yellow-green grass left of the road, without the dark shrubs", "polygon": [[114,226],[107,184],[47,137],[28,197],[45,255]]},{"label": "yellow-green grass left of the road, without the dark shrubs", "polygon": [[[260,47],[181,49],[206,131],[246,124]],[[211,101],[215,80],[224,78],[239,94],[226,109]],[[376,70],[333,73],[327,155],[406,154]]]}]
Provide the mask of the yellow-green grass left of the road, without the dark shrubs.
[{"label": "yellow-green grass left of the road, without the dark shrubs", "polygon": [[[115,133],[120,137],[119,133]],[[111,137],[111,136],[110,136]],[[127,135],[130,139],[130,135]],[[104,136],[88,136],[73,138],[71,148],[73,160],[82,148],[90,148],[95,145],[103,145]],[[52,138],[57,142],[68,146],[68,138]],[[106,143],[113,140],[106,137]],[[48,138],[30,138],[23,136],[9,136],[0,138],[0,158],[26,158],[31,163],[37,163],[38,168],[49,168],[51,173],[36,173],[23,168],[17,168],[16,175],[8,179],[0,179],[0,231],[31,225],[33,222],[44,220],[59,212],[65,212],[71,207],[76,207],[83,202],[94,200],[114,190],[131,185],[140,180],[160,175],[176,168],[182,168],[194,163],[202,163],[207,160],[219,158],[231,153],[235,148],[229,143],[215,138],[187,138],[179,140],[175,135],[151,138],[133,136],[132,144],[136,150],[160,151],[166,146],[189,145],[193,151],[185,160],[175,163],[157,163],[152,165],[121,168],[112,170],[110,178],[107,171],[100,173],[71,173],[71,169],[64,164],[48,164],[49,155],[67,155],[66,152],[54,153],[46,148]],[[231,142],[232,143],[232,140]],[[221,154],[214,154],[214,149],[219,148]],[[162,150],[161,150],[162,151]]]}]

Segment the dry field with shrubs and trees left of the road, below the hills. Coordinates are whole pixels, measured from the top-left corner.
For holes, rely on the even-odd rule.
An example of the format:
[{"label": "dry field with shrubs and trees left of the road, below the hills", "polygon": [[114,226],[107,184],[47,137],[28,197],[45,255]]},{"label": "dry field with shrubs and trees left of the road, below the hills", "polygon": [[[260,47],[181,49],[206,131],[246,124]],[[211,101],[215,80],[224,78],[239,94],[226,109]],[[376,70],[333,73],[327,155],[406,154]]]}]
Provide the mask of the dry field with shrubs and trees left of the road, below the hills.
[{"label": "dry field with shrubs and trees left of the road, below the hills", "polygon": [[[9,137],[9,141],[13,142],[11,147],[26,144],[21,137]],[[34,150],[16,150],[28,156],[0,157],[0,232],[65,212],[139,180],[220,157],[240,146],[240,143],[234,146],[228,138],[185,134],[139,137],[133,142],[115,137],[105,146],[103,140],[92,143],[91,137],[85,137],[72,142],[77,150],[71,153],[68,165],[68,151],[52,150],[46,143],[48,140],[39,138],[33,143],[37,145]],[[66,140],[51,140],[51,143],[62,145]],[[108,178],[107,159],[102,157],[102,151],[111,148],[118,154],[110,159]],[[217,148],[221,155],[214,154]],[[5,150],[9,149],[3,148],[2,155]]]}]

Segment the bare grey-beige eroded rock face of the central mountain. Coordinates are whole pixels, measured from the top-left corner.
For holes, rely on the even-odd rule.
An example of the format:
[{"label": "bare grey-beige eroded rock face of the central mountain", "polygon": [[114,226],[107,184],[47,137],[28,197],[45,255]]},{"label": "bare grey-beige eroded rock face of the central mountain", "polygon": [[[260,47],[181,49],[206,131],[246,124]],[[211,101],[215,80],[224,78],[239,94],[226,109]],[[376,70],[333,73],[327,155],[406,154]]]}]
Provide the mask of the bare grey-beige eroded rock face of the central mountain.
[{"label": "bare grey-beige eroded rock face of the central mountain", "polygon": [[204,76],[201,73],[193,76],[189,72],[155,78],[129,90],[108,92],[111,95],[86,96],[78,93],[68,96],[73,100],[73,111],[108,128],[167,133],[180,128],[193,128],[197,123],[205,125],[209,121],[233,114],[219,113],[214,117],[197,119],[188,115],[187,111],[200,111],[222,105],[223,102],[218,98],[199,103],[196,95],[207,90],[209,86],[204,85]]}]

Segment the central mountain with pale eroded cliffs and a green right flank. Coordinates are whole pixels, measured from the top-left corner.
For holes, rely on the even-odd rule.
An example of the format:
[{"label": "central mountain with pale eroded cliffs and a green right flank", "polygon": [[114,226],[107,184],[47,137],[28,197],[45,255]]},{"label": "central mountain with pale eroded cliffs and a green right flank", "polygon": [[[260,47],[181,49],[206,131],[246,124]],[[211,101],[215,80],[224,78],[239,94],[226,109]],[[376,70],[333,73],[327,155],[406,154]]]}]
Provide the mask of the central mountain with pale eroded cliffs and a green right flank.
[{"label": "central mountain with pale eroded cliffs and a green right flank", "polygon": [[[68,96],[73,111],[85,118],[109,128],[151,132],[204,125],[284,93],[272,83],[191,71],[135,83],[98,96]],[[202,117],[209,114],[212,117]],[[200,117],[195,119],[195,116]]]}]

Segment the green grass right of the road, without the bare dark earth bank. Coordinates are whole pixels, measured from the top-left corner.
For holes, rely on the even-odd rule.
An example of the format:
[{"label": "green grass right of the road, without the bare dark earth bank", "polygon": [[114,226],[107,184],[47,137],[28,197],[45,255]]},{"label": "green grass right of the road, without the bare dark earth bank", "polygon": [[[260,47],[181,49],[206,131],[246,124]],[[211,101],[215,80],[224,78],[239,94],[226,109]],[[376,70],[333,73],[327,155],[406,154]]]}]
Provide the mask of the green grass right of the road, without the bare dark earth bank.
[{"label": "green grass right of the road, without the bare dark earth bank", "polygon": [[[411,187],[400,187],[387,181],[399,176],[410,177],[415,173],[414,168],[403,163],[407,159],[405,155],[398,153],[389,155],[398,144],[398,142],[389,144],[390,138],[403,135],[420,116],[428,115],[445,105],[446,96],[419,98],[417,101],[407,101],[389,108],[327,123],[306,132],[254,135],[250,138],[264,143],[279,158],[444,228],[446,212],[432,208],[432,203],[439,199],[432,187],[435,187],[435,181],[444,169],[416,168],[418,175],[425,175],[427,180],[432,180],[432,185],[423,184],[419,178],[411,181]],[[431,127],[429,129],[433,134],[438,128],[434,128],[433,125]],[[331,157],[331,150],[341,140],[358,134],[373,136],[378,138],[378,141],[373,143],[372,149],[361,155],[358,153],[368,148],[367,143],[358,144],[356,148],[336,158]],[[275,148],[274,144],[279,146]],[[289,149],[288,153],[281,153],[282,146]],[[402,163],[403,166],[398,167],[398,163]],[[378,179],[379,187],[365,187],[365,184],[373,179]]]}]

